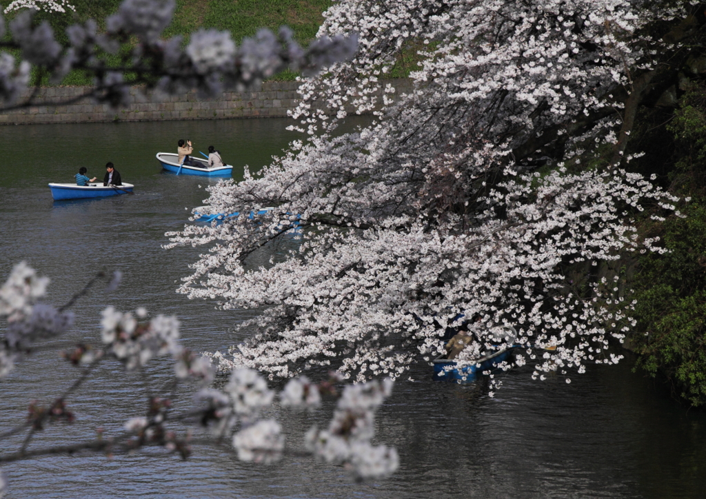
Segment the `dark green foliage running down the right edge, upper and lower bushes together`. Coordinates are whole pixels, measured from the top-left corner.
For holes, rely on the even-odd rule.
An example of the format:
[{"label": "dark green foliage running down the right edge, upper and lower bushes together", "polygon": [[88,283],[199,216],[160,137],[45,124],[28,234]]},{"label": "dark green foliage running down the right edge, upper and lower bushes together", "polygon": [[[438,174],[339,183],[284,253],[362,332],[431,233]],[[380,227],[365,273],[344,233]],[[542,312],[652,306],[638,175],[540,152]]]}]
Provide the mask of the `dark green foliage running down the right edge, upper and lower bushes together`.
[{"label": "dark green foliage running down the right edge, upper and lower bushes together", "polygon": [[706,404],[706,90],[695,88],[666,127],[673,133],[671,191],[693,200],[686,218],[645,223],[659,234],[669,253],[647,254],[635,277],[639,330],[630,338],[640,354],[638,366],[663,373],[694,406]]}]

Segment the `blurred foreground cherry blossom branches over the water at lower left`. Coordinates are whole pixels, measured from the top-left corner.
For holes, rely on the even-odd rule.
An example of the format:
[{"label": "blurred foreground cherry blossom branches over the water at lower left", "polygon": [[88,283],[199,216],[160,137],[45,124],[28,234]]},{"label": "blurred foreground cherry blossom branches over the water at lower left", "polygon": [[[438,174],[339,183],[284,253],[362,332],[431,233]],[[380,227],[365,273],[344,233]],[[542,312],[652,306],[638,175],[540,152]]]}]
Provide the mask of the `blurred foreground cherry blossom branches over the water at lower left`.
[{"label": "blurred foreground cherry blossom branches over the water at lower left", "polygon": [[[120,273],[103,273],[92,279],[64,306],[55,308],[42,303],[49,279],[40,277],[34,269],[21,262],[0,287],[0,320],[6,323],[0,337],[0,390],[2,380],[14,369],[21,369],[37,349],[46,349],[45,339],[63,335],[73,325],[73,313],[68,309],[97,283],[108,280],[107,289],[114,289]],[[4,448],[16,445],[15,452],[0,453],[0,464],[57,454],[97,453],[116,455],[133,453],[150,447],[161,447],[165,455],[177,454],[186,459],[191,445],[207,443],[229,447],[243,461],[271,463],[287,453],[301,453],[287,447],[287,431],[274,419],[262,419],[261,411],[279,399],[280,405],[292,410],[316,410],[326,396],[337,397],[333,419],[328,428],[311,427],[304,441],[310,455],[322,462],[342,464],[355,479],[379,479],[397,469],[397,451],[385,445],[373,445],[375,412],[390,395],[393,381],[388,379],[360,385],[349,385],[337,392],[340,377],[313,383],[302,376],[289,380],[284,390],[276,394],[268,388],[260,373],[241,367],[230,373],[222,390],[212,387],[214,369],[210,359],[197,356],[179,344],[179,320],[156,315],[139,308],[135,313],[123,313],[109,306],[102,312],[102,331],[94,344],[78,344],[62,351],[64,361],[76,368],[76,380],[48,401],[28,402],[28,417],[15,428],[0,433]],[[52,347],[53,348],[53,347]],[[171,359],[173,378],[150,381],[145,366],[158,358]],[[72,398],[80,387],[104,363],[120,363],[126,373],[142,371],[144,383],[150,384],[147,404],[136,400],[136,407],[147,407],[124,422],[122,432],[106,432],[100,428],[85,428],[97,438],[76,440],[66,445],[41,447],[44,428],[59,423],[74,423],[80,419],[71,409]],[[194,403],[179,407],[172,401],[177,383],[190,383],[195,390]],[[129,395],[128,395],[129,396]],[[106,402],[109,405],[109,402]],[[78,423],[77,423],[78,424]],[[7,481],[0,469],[0,497]]]}]

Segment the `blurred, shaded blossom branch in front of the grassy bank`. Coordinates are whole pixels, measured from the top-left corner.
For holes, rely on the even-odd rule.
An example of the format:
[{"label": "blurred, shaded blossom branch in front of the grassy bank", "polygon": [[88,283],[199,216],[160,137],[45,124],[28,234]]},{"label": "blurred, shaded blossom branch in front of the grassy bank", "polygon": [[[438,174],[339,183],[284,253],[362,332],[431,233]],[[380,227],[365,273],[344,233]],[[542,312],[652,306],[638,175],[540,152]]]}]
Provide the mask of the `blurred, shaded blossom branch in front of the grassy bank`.
[{"label": "blurred, shaded blossom branch in front of the grassy bank", "polygon": [[[63,0],[40,3],[47,8],[68,6]],[[11,6],[16,9],[30,4],[17,0]],[[147,97],[159,99],[165,93],[189,90],[213,97],[226,89],[256,85],[287,68],[314,74],[351,57],[357,49],[354,34],[322,36],[305,49],[288,28],[281,28],[276,35],[260,30],[255,37],[242,40],[239,47],[229,32],[213,29],[194,32],[187,43],[181,36],[165,40],[162,34],[175,8],[175,0],[124,0],[105,20],[105,32],[97,32],[95,20],[66,28],[66,46],[57,42],[48,23],[32,23],[36,9],[23,9],[9,23],[11,41],[0,42],[0,48],[21,53],[21,60],[16,61],[8,52],[0,52],[0,103],[20,100],[29,83],[30,65],[43,68],[54,83],[74,70],[94,75],[89,96],[117,107],[128,104],[126,72],[137,75],[131,84],[144,84]],[[0,38],[5,30],[0,15]],[[138,42],[133,44],[131,37]],[[121,47],[125,49],[121,51]],[[115,57],[109,59],[115,54],[121,54],[117,64]],[[30,101],[16,105],[30,105]]]}]

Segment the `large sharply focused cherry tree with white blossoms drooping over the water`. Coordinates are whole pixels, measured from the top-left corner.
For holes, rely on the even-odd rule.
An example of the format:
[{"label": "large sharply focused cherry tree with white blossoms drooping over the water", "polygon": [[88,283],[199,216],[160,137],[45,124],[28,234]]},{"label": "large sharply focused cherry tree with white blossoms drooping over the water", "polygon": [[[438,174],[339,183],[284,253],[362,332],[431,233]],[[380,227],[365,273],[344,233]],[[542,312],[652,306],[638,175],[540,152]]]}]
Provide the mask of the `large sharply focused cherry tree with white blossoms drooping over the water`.
[{"label": "large sharply focused cherry tree with white blossoms drooping over the water", "polygon": [[[628,171],[628,139],[703,23],[669,1],[334,4],[319,35],[355,30],[359,51],[301,80],[293,116],[309,138],[206,201],[211,214],[274,209],[167,234],[167,248],[205,248],[179,292],[262,310],[241,325],[251,339],[213,359],[270,378],[396,378],[469,322],[484,348],[515,327],[505,367],[534,377],[617,363],[634,303],[599,264],[664,251],[635,217],[683,203]],[[419,61],[403,95],[383,80],[401,54]],[[342,134],[349,112],[373,120]],[[253,266],[293,227],[296,250]]]}]

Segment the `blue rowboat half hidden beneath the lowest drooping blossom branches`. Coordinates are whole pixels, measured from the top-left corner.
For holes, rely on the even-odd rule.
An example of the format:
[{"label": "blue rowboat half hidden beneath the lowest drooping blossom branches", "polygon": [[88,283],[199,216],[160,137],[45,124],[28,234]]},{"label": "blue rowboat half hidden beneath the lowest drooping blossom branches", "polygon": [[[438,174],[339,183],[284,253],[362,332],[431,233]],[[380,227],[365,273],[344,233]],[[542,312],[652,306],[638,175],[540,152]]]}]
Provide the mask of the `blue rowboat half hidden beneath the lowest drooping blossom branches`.
[{"label": "blue rowboat half hidden beneath the lowest drooping blossom branches", "polygon": [[513,344],[517,339],[517,331],[512,326],[501,326],[490,339],[498,346],[486,351],[480,359],[471,364],[456,367],[455,360],[445,359],[445,355],[438,356],[433,360],[434,379],[470,383],[484,371],[492,371],[498,364],[508,360],[513,348],[517,346]]}]

